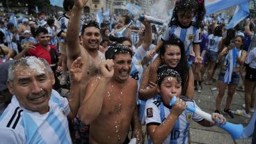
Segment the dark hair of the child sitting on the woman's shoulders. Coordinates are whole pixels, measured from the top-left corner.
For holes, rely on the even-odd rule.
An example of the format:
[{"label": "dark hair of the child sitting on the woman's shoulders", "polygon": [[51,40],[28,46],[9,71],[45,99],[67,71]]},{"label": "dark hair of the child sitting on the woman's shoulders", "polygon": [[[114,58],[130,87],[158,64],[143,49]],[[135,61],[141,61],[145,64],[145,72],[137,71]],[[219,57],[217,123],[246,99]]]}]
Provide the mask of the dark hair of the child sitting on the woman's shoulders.
[{"label": "dark hair of the child sitting on the woman's shoulders", "polygon": [[200,28],[206,12],[205,0],[177,0],[175,3],[175,8],[173,9],[173,16],[168,24],[169,26],[173,24],[173,22],[177,22],[179,20],[179,12],[183,12],[184,15],[186,15],[186,13],[194,13],[194,17],[196,19],[195,23],[198,28]]}]

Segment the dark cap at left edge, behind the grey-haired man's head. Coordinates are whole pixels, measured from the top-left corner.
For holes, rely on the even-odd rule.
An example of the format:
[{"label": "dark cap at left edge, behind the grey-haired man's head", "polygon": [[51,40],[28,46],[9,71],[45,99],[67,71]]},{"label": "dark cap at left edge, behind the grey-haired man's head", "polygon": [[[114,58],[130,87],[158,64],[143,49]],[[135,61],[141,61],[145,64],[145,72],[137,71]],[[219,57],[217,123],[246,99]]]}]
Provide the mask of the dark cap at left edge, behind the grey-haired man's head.
[{"label": "dark cap at left edge, behind the grey-haired man's head", "polygon": [[13,60],[6,61],[0,65],[0,91],[7,89],[6,81],[8,79],[8,68]]}]

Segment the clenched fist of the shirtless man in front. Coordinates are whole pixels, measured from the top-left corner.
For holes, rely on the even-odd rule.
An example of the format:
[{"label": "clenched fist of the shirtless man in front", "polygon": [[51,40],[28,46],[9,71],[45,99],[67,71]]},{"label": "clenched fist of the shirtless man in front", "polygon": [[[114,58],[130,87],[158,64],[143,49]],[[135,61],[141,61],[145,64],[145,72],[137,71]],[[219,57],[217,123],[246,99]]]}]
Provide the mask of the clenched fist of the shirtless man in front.
[{"label": "clenched fist of the shirtless man in front", "polygon": [[114,74],[113,60],[107,59],[99,65],[100,75],[102,78],[111,79]]}]

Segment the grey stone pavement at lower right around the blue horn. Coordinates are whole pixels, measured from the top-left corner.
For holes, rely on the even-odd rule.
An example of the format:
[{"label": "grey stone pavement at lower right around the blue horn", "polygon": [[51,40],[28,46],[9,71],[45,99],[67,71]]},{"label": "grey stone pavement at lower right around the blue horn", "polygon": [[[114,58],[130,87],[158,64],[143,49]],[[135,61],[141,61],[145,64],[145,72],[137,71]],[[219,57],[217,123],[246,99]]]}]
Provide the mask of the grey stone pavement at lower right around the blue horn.
[{"label": "grey stone pavement at lower right around the blue horn", "polygon": [[[218,74],[218,72],[216,72]],[[215,74],[214,78],[218,78]],[[240,81],[241,82],[241,81]],[[202,109],[202,111],[205,111],[207,113],[213,113],[215,111],[215,105],[216,105],[216,97],[218,95],[218,89],[217,90],[211,90],[211,88],[216,88],[217,82],[213,83],[212,85],[205,85],[203,84],[203,90],[202,92],[198,93],[195,92],[195,102],[198,104],[198,106]],[[223,97],[223,101],[221,103],[221,114],[227,118],[227,115],[223,112],[223,109],[225,108],[225,99],[227,97],[227,90],[225,91],[225,96]],[[232,111],[237,111],[237,109],[243,109],[242,104],[244,104],[244,92],[236,91],[233,96],[232,104],[230,109]],[[253,113],[251,113],[253,115]],[[232,122],[233,124],[242,124],[243,127],[248,124],[250,119],[244,118],[241,115],[234,115],[234,118],[227,118],[228,122]],[[233,141],[230,134],[227,133],[227,131],[224,131],[218,126],[214,127],[202,127],[201,125],[198,125],[197,122],[191,122],[191,125],[189,127],[189,141],[190,143],[251,143],[251,138],[244,138],[239,139],[237,141]]]}]

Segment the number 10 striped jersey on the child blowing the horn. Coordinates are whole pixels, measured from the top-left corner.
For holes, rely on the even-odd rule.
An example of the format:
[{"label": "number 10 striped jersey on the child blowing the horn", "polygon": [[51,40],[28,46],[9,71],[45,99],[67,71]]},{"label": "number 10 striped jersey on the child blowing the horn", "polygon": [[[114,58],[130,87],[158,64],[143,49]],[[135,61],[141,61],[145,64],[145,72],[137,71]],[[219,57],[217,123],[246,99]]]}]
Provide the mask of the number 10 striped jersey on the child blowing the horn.
[{"label": "number 10 striped jersey on the child blowing the horn", "polygon": [[[195,107],[195,109],[200,109],[193,100],[186,97],[180,97],[186,102],[187,106]],[[163,105],[161,97],[152,100],[146,104],[146,125],[161,125],[168,115],[172,111]],[[168,134],[167,138],[163,141],[164,144],[173,143],[188,143],[188,130],[191,120],[195,122],[200,122],[203,120],[202,117],[195,115],[191,111],[185,110],[179,118],[176,120],[173,130]],[[148,136],[148,143],[152,143],[150,136]]]}]

